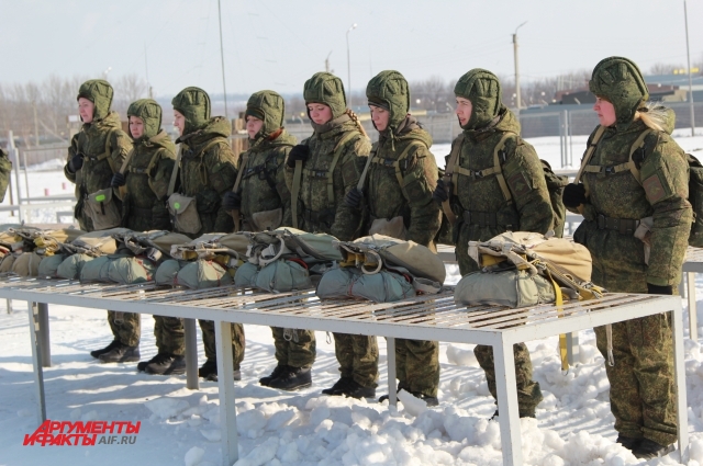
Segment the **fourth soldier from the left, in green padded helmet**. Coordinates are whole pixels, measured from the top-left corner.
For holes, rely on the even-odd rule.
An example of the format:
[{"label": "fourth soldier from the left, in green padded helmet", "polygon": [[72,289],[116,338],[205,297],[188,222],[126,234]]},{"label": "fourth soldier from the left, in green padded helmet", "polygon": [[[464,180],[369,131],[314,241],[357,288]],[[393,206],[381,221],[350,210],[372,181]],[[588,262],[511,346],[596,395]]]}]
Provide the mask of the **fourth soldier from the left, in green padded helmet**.
[{"label": "fourth soldier from the left, in green padded helmet", "polygon": [[[239,156],[236,191],[227,192],[222,201],[233,215],[241,215],[235,221],[242,223],[238,229],[243,231],[291,225],[283,162],[297,140],[283,128],[284,114],[283,98],[274,91],[255,92],[246,104],[249,149]],[[284,390],[308,387],[312,383],[310,367],[315,361],[315,333],[294,330],[295,338],[286,339],[284,331],[271,327],[278,365],[259,384]]]}]

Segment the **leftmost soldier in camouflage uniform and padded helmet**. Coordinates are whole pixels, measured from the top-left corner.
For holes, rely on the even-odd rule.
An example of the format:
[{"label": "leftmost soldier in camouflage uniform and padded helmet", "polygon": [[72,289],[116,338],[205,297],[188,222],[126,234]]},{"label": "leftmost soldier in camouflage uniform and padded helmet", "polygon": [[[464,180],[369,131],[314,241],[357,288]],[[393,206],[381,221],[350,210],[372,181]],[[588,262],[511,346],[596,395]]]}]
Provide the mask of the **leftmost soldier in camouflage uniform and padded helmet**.
[{"label": "leftmost soldier in camouflage uniform and padded helmet", "polygon": [[[70,141],[64,173],[76,183],[75,216],[83,231],[94,230],[86,197],[110,187],[112,175],[132,149],[130,137],[121,129],[120,115],[110,111],[112,94],[112,86],[102,79],[86,81],[78,90],[78,111],[83,125]],[[121,208],[116,196],[112,202]],[[114,340],[90,354],[105,363],[140,361],[140,315],[108,310],[108,322]]]}]

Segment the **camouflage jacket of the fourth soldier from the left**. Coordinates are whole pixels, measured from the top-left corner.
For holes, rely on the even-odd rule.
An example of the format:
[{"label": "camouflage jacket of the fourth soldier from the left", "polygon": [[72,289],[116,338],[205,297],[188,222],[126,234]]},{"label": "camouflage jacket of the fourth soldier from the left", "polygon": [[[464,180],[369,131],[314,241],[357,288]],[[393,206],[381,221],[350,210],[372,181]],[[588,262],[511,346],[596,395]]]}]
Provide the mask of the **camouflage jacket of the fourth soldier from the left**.
[{"label": "camouflage jacket of the fourth soldier from the left", "polygon": [[[252,218],[252,214],[264,211],[283,209],[281,225],[291,225],[290,191],[286,185],[286,171],[283,169],[286,157],[290,149],[298,143],[294,136],[282,129],[275,139],[259,137],[253,143],[249,150],[239,155],[239,170],[242,181],[241,213],[245,219]],[[242,164],[246,158],[246,167]]]}]

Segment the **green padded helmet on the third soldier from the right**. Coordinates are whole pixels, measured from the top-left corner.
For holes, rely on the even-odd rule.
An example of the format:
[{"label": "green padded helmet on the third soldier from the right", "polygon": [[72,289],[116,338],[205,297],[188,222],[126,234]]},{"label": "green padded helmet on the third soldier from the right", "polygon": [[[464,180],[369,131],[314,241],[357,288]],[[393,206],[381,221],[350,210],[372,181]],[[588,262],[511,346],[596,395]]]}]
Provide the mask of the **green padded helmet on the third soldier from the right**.
[{"label": "green padded helmet on the third soldier from the right", "polygon": [[387,70],[376,75],[366,87],[369,105],[380,106],[390,112],[389,127],[397,127],[410,110],[410,88],[398,71]]}]

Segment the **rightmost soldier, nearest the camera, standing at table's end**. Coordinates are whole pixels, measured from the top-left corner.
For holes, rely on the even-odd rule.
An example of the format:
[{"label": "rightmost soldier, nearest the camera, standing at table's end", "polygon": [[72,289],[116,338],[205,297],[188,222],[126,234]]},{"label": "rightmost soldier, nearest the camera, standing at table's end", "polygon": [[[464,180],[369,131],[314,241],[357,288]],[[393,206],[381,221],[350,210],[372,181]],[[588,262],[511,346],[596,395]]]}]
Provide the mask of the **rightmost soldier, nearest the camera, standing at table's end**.
[{"label": "rightmost soldier, nearest the camera, standing at table's end", "polygon": [[[693,218],[689,166],[670,136],[673,112],[646,105],[647,84],[627,58],[599,62],[589,88],[600,126],[588,141],[593,149],[582,183],[563,192],[563,204],[584,217],[573,240],[589,249],[592,280],[607,291],[672,295]],[[632,156],[639,182],[631,167],[618,167],[627,166],[631,149],[641,143]],[[640,240],[633,234],[646,217],[652,226]],[[614,365],[605,371],[617,442],[638,458],[663,456],[677,440],[671,315],[613,323],[612,330]],[[607,360],[604,327],[595,328],[595,338]]]}]

